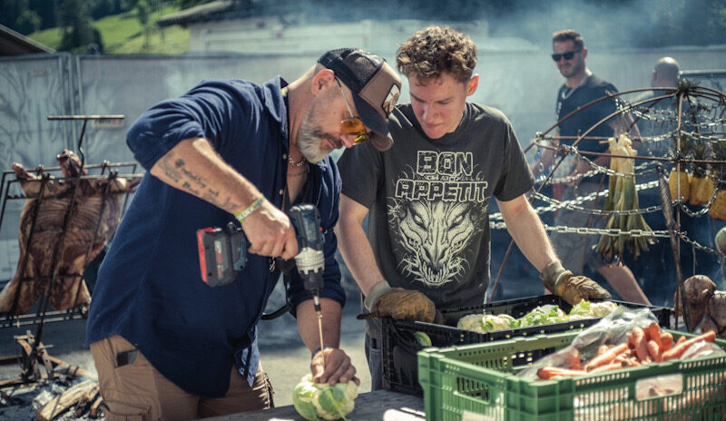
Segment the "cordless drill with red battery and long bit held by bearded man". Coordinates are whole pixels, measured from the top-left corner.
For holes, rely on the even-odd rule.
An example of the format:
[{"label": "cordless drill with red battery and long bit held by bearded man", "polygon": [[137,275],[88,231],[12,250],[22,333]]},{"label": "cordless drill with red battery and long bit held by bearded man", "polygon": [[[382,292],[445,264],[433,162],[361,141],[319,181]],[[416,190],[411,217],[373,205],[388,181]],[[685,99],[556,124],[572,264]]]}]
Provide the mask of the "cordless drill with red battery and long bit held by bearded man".
[{"label": "cordless drill with red battery and long bit held by bearded man", "polygon": [[[295,264],[302,278],[303,287],[312,296],[318,318],[320,348],[323,346],[322,309],[320,291],[323,289],[323,236],[320,232],[318,209],[308,203],[291,207],[290,222],[298,239],[298,255]],[[231,283],[247,263],[250,242],[240,227],[230,222],[224,229],[202,228],[197,230],[201,279],[210,287]],[[324,363],[324,361],[323,361]]]}]

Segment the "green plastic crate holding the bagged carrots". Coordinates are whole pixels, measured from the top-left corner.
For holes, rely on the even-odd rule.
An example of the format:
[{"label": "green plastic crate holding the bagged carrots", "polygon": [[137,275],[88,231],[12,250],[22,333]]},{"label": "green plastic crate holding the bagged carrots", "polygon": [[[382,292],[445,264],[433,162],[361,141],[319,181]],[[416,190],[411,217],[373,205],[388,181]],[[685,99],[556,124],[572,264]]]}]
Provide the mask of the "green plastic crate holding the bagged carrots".
[{"label": "green plastic crate holding the bagged carrots", "polygon": [[[665,331],[671,332],[674,340],[694,336]],[[418,381],[424,390],[427,420],[726,419],[726,356],[671,360],[545,381],[515,376],[518,369],[569,345],[577,334],[566,332],[419,351]],[[716,343],[726,349],[726,341],[717,339]],[[668,396],[648,396],[652,387],[663,384],[668,377],[682,382],[681,390]]]}]

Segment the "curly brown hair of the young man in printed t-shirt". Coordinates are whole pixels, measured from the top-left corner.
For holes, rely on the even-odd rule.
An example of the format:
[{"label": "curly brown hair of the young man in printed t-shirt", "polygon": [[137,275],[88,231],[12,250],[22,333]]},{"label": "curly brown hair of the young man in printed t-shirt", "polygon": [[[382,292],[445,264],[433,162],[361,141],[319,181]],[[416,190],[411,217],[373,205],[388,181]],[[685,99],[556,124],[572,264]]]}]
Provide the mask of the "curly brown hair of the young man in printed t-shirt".
[{"label": "curly brown hair of the young man in printed t-shirt", "polygon": [[398,72],[426,80],[448,72],[466,83],[476,66],[476,45],[468,36],[455,29],[428,26],[398,47]]}]

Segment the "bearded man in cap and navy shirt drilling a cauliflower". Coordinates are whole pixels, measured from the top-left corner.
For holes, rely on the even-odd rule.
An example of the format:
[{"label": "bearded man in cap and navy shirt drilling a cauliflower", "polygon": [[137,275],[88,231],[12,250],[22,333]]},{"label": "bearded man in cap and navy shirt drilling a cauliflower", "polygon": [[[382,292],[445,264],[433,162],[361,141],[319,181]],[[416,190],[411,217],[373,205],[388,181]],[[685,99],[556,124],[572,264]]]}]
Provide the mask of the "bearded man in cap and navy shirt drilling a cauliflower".
[{"label": "bearded man in cap and navy shirt drilling a cauliflower", "polygon": [[[270,407],[257,322],[298,253],[284,210],[315,205],[325,239],[323,342],[290,271],[291,312],[318,382],[358,382],[338,348],[345,292],[334,259],[340,178],[329,152],[391,145],[400,78],[380,57],[330,51],[296,81],[206,81],[154,105],[127,143],[144,176],[99,269],[87,327],[109,419],[190,419]],[[250,258],[230,284],[201,280],[196,231],[241,226]],[[325,365],[323,366],[323,358]]]}]

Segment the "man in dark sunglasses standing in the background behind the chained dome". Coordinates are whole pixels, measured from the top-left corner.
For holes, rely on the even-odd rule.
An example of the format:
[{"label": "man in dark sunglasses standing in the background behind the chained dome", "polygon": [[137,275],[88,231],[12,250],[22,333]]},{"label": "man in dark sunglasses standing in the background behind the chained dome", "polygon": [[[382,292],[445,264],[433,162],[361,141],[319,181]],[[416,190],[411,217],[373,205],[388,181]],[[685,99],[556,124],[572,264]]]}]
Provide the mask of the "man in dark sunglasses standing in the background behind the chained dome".
[{"label": "man in dark sunglasses standing in the background behind the chained dome", "polygon": [[[585,64],[587,48],[584,46],[582,35],[572,29],[564,29],[553,34],[552,42],[554,50],[552,59],[565,78],[565,83],[557,92],[556,113],[558,121],[570,113],[574,113],[587,103],[600,99],[609,93],[617,93],[613,83],[603,81],[587,68]],[[615,111],[616,106],[613,100],[604,100],[577,111],[577,113],[574,113],[558,125],[558,135],[570,137],[569,140],[561,142],[573,144],[577,136],[584,134],[584,132]],[[581,152],[607,152],[607,143],[600,142],[600,140],[619,134],[624,130],[627,130],[624,119],[622,117],[612,118],[595,127],[586,138],[577,143],[577,149]],[[590,138],[600,138],[600,140]],[[584,156],[604,167],[608,167],[610,164],[610,159],[607,157]],[[553,152],[544,150],[541,162],[535,162],[533,167],[535,175],[552,162]],[[576,162],[572,164],[574,170],[564,175],[573,176],[574,181],[562,188],[561,199],[563,201],[570,201],[576,197],[586,196],[604,189],[600,183],[603,174],[597,174],[594,177],[582,177],[582,174],[592,170],[588,162],[580,157],[572,157],[572,159],[568,157],[568,162]],[[565,169],[565,171],[567,170]],[[607,186],[607,180],[602,185]],[[593,206],[592,202],[585,202],[585,204],[588,207]],[[597,206],[602,206],[602,202],[598,202]],[[591,218],[588,213],[577,210],[560,209],[554,218],[554,224],[567,227],[604,228],[605,220],[597,216]],[[562,257],[565,267],[581,271],[592,269],[603,276],[622,299],[650,304],[650,301],[643,293],[643,289],[640,288],[633,276],[633,272],[623,265],[623,262],[605,262],[602,256],[592,250],[594,244],[599,240],[599,236],[554,232],[551,238],[554,249]]]}]

